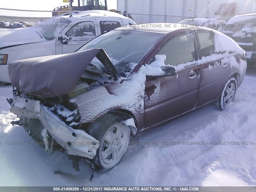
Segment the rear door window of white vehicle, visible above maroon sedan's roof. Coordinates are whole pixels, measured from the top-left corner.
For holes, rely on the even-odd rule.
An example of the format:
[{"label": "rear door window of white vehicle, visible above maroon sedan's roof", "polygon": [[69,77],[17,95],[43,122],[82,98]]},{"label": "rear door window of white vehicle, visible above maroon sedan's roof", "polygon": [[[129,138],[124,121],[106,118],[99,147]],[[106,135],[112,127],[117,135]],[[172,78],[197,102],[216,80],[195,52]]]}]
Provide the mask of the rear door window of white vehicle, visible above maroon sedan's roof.
[{"label": "rear door window of white vehicle, visible above maroon sedan's roof", "polygon": [[96,17],[98,33],[102,34],[107,31],[113,30],[115,28],[123,26],[123,22],[121,18],[116,17]]}]

